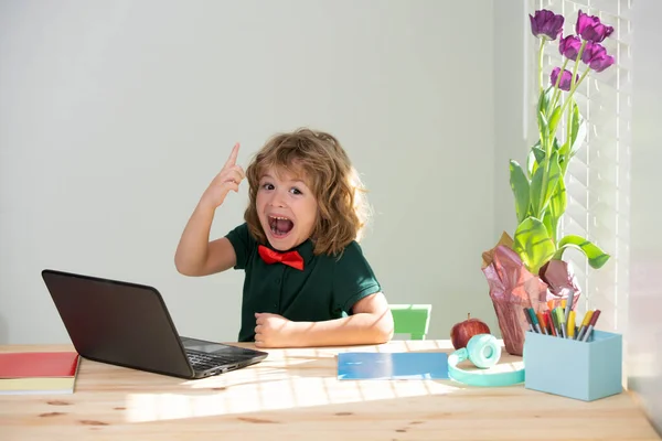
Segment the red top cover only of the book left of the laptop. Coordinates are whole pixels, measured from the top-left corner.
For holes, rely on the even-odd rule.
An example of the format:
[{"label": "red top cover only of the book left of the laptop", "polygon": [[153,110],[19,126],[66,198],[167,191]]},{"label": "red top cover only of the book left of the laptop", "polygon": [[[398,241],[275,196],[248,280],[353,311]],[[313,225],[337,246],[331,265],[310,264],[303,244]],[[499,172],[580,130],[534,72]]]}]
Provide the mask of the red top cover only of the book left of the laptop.
[{"label": "red top cover only of the book left of the laptop", "polygon": [[0,353],[0,378],[74,377],[76,352]]}]

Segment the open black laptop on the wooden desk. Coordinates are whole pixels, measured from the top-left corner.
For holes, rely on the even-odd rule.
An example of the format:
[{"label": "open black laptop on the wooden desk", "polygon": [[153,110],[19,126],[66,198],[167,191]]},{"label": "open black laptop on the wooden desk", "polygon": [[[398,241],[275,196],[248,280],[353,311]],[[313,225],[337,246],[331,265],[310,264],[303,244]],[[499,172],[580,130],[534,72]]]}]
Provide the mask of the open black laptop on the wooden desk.
[{"label": "open black laptop on the wooden desk", "polygon": [[261,362],[266,352],[180,336],[152,287],[44,269],[76,352],[88,359],[197,379]]}]

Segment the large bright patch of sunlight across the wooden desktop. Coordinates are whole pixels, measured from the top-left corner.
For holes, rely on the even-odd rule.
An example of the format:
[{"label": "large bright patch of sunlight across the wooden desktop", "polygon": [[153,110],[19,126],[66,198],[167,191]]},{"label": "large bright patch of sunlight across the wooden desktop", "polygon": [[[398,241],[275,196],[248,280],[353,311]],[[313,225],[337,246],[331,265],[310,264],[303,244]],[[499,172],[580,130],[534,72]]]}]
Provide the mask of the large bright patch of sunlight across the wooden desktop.
[{"label": "large bright patch of sunlight across the wooden desktop", "polygon": [[[372,351],[438,351],[433,342],[402,342]],[[446,395],[463,388],[450,380],[339,380],[337,355],[370,347],[278,352],[258,365],[186,381],[178,394],[129,394],[129,422],[232,416],[269,410]],[[332,374],[331,374],[332,373]]]}]

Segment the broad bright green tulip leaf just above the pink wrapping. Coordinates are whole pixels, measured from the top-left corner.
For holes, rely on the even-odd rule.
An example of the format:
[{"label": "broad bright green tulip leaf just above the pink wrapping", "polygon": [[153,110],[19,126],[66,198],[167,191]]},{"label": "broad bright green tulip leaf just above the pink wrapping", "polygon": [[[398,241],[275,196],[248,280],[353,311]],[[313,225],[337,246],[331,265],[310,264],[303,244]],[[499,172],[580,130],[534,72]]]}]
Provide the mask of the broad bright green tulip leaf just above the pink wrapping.
[{"label": "broad bright green tulip leaf just above the pink wrapping", "polygon": [[527,217],[517,225],[513,237],[513,249],[526,269],[534,275],[537,275],[541,267],[549,261],[556,251],[547,228],[535,217]]}]

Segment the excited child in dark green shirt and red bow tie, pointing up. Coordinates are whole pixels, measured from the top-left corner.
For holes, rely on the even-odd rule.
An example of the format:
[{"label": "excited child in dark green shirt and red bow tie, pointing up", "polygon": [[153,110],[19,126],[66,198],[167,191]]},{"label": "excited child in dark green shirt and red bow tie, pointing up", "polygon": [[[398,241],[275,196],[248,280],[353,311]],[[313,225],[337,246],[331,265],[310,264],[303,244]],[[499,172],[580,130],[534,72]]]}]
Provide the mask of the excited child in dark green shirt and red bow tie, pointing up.
[{"label": "excited child in dark green shirt and red bow tie, pointing up", "polygon": [[[182,234],[185,276],[246,273],[239,342],[258,347],[384,343],[393,318],[357,244],[367,209],[345,151],[329,133],[271,138],[246,169],[239,146],[203,193]],[[245,223],[210,241],[215,209],[248,179]]]}]

